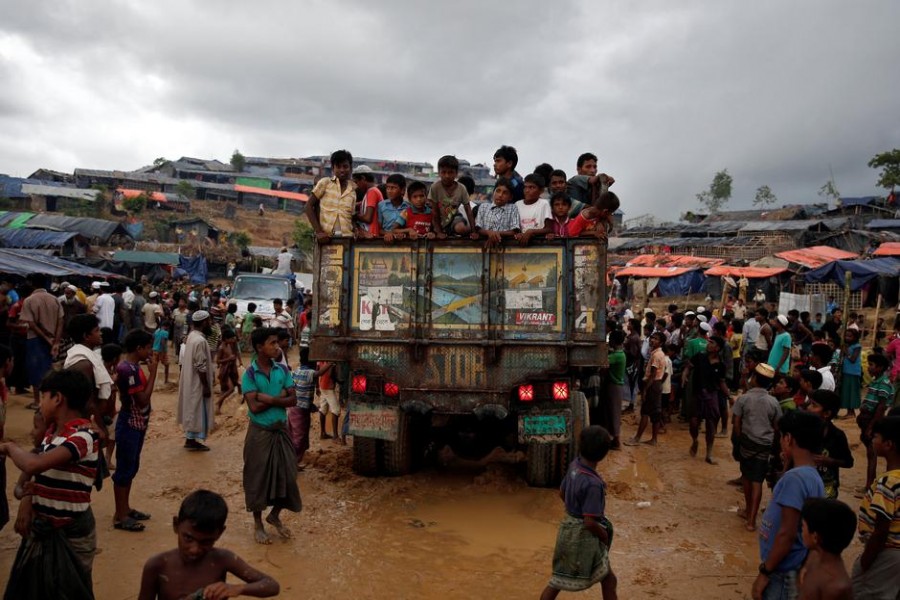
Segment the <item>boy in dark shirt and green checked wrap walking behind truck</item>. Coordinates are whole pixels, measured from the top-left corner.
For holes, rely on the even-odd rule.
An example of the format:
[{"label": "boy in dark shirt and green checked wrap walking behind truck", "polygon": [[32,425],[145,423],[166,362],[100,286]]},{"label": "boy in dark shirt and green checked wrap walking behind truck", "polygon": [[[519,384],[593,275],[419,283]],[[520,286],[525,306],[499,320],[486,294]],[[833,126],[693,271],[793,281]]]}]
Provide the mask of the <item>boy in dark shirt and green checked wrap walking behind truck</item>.
[{"label": "boy in dark shirt and green checked wrap walking behind truck", "polygon": [[598,425],[581,431],[579,456],[559,489],[566,516],[559,525],[553,551],[553,576],[541,600],[554,600],[560,590],[578,592],[597,583],[603,600],[616,600],[616,576],[609,564],[612,523],[606,519],[606,482],[597,473],[609,452],[609,433]]}]

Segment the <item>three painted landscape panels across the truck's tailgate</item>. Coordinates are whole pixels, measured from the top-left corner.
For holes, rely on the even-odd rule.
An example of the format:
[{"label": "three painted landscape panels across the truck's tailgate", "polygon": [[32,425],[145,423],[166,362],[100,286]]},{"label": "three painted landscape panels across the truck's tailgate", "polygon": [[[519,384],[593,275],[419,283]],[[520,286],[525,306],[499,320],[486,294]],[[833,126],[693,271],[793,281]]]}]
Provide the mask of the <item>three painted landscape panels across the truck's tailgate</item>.
[{"label": "three painted landscape panels across the truck's tailgate", "polygon": [[[359,331],[399,331],[418,325],[430,327],[439,337],[456,337],[454,330],[461,335],[483,329],[562,330],[561,248],[356,252],[352,320]],[[430,278],[425,276],[429,272]]]}]

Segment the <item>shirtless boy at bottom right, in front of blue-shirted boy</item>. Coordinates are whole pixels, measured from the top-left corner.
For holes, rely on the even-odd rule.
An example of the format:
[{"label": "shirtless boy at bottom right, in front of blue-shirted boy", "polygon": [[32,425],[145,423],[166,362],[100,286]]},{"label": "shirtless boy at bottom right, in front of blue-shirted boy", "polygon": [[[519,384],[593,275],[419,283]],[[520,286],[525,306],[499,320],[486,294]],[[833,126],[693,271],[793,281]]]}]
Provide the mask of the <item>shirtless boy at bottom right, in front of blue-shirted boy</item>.
[{"label": "shirtless boy at bottom right, in front of blue-shirted boy", "polygon": [[841,552],[856,532],[856,515],[837,500],[812,498],[800,512],[803,545],[809,551],[798,577],[799,600],[852,600]]}]

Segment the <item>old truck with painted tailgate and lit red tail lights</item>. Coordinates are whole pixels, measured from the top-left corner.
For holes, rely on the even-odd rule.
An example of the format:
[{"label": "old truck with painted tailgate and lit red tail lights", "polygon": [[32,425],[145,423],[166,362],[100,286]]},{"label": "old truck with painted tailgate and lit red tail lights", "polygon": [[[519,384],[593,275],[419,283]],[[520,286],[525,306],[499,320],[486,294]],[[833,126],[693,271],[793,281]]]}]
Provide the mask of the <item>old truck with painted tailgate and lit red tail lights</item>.
[{"label": "old truck with painted tailgate and lit red tail lights", "polygon": [[607,366],[604,240],[332,238],[314,274],[310,357],[339,365],[354,471],[501,447],[558,483],[589,423],[580,381]]}]

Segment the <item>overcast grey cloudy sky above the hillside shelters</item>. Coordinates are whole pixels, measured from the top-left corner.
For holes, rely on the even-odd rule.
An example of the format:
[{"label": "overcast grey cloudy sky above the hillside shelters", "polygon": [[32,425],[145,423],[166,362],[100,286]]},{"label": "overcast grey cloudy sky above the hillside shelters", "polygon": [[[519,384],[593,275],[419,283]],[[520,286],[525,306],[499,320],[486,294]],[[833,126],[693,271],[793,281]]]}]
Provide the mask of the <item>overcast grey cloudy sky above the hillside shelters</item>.
[{"label": "overcast grey cloudy sky above the hillside shelters", "polygon": [[0,173],[157,157],[372,158],[616,179],[676,220],[722,169],[725,209],[880,193],[900,147],[900,2],[0,0]]}]

